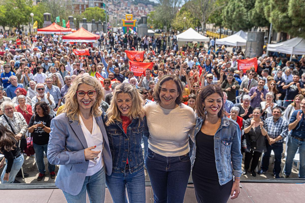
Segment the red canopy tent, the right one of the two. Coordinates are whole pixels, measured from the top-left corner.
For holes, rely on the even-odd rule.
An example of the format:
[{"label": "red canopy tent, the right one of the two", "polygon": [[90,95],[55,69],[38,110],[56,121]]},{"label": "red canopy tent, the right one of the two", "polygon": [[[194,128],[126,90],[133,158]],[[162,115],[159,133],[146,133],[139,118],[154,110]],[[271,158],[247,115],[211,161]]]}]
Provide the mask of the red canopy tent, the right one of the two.
[{"label": "red canopy tent, the right one of the two", "polygon": [[95,42],[99,39],[99,35],[93,34],[83,27],[72,34],[63,36],[63,42]]}]

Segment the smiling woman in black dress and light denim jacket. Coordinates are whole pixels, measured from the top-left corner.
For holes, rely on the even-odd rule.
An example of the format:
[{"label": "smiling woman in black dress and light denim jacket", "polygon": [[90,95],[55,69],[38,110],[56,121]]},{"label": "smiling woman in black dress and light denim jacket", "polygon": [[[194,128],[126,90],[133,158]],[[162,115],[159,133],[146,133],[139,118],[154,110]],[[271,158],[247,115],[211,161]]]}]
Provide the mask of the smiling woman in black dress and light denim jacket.
[{"label": "smiling woman in black dress and light denim jacket", "polygon": [[[197,122],[192,137],[192,179],[198,202],[224,203],[239,195],[242,174],[241,131],[224,115],[223,92],[208,85],[196,101]],[[233,182],[233,175],[235,181]]]}]

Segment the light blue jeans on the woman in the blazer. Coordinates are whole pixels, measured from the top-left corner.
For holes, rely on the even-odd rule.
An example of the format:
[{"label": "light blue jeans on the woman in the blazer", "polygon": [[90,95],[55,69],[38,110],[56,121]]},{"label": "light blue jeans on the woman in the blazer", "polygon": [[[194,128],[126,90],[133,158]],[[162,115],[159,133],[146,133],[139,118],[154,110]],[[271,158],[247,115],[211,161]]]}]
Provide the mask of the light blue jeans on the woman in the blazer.
[{"label": "light blue jeans on the woman in the blazer", "polygon": [[86,176],[81,192],[77,195],[72,195],[63,191],[68,203],[84,203],[86,202],[86,191],[90,203],[103,203],[105,200],[105,165],[99,172],[92,176]]}]

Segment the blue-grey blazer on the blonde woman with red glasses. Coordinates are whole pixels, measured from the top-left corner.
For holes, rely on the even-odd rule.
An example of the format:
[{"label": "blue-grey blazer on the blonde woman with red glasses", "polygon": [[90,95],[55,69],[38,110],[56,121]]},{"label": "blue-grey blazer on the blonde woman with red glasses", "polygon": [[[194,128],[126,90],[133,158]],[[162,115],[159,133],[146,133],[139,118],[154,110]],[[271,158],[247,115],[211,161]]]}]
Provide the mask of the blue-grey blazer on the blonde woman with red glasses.
[{"label": "blue-grey blazer on the blonde woman with red glasses", "polygon": [[[106,174],[111,175],[112,157],[102,116],[95,117],[95,120],[103,135],[102,157]],[[89,164],[84,156],[84,149],[88,147],[78,121],[73,122],[66,113],[52,119],[47,155],[51,164],[61,165],[55,181],[59,189],[72,195],[80,193]]]}]

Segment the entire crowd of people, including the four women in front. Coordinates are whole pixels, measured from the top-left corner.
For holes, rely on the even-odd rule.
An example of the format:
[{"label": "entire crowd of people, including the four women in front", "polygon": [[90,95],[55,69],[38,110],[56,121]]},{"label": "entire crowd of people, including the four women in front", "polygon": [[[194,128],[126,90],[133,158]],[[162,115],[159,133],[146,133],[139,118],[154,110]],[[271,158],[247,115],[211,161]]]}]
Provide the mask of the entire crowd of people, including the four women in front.
[{"label": "entire crowd of people, including the four women in front", "polygon": [[[242,174],[267,173],[272,150],[275,178],[290,176],[296,153],[305,178],[304,57],[263,54],[243,71],[240,47],[212,42],[178,47],[173,37],[110,31],[97,47],[55,35],[18,39],[0,51],[2,184],[21,177],[27,137],[37,180],[46,156],[68,202],[85,202],[86,191],[103,200],[105,184],[114,202],[127,202],[126,188],[129,201],[145,202],[144,165],[155,202],[183,202],[191,170],[198,202],[226,202],[238,197]],[[73,52],[85,48],[89,56]],[[153,68],[135,76],[124,51],[139,49]]]}]

